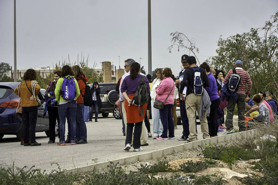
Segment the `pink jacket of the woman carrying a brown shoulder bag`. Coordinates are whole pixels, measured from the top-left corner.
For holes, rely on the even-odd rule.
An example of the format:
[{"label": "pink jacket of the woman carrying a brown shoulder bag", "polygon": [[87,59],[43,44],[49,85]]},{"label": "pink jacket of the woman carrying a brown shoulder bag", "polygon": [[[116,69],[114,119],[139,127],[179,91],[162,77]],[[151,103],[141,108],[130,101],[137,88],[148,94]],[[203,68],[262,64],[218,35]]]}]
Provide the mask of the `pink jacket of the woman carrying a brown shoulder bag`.
[{"label": "pink jacket of the woman carrying a brown shoulder bag", "polygon": [[[162,101],[164,103],[164,101],[166,100],[168,94],[170,93],[173,87],[174,87],[173,79],[171,77],[164,78],[158,85],[158,88],[155,90],[156,100]],[[170,93],[170,96],[168,97],[164,105],[174,104],[174,92],[175,92],[175,87],[173,88],[172,92]]]}]

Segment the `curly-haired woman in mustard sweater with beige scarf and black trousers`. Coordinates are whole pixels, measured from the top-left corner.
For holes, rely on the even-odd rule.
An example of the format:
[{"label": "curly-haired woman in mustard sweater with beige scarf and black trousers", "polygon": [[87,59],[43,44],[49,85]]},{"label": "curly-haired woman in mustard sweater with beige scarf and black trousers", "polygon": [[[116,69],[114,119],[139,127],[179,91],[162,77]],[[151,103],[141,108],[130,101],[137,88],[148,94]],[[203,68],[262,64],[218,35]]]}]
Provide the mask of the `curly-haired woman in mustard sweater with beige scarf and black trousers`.
[{"label": "curly-haired woman in mustard sweater with beige scarf and black trousers", "polygon": [[[36,81],[36,71],[34,69],[27,69],[23,75],[23,81],[15,88],[14,92],[21,98],[24,146],[40,146],[41,143],[36,142],[39,105],[37,95],[40,92],[40,85]],[[28,138],[31,142],[28,141]]]}]

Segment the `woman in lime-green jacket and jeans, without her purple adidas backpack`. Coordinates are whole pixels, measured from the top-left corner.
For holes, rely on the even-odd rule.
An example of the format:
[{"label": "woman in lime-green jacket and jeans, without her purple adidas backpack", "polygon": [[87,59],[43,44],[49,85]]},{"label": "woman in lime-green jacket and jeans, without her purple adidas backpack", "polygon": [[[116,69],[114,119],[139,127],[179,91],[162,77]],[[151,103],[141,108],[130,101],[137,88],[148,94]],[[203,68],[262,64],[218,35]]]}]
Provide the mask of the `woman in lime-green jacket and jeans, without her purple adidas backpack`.
[{"label": "woman in lime-green jacket and jeans, without her purple adidas backpack", "polygon": [[[77,83],[76,79],[74,78],[74,71],[70,66],[65,65],[62,68],[61,76],[62,76],[62,78],[59,78],[59,80],[57,81],[55,92],[54,92],[56,101],[58,101],[58,113],[59,113],[59,118],[60,118],[60,127],[59,127],[60,142],[58,142],[57,145],[58,146],[65,145],[65,118],[66,117],[70,123],[70,144],[75,145],[76,144],[74,141],[75,132],[76,132],[75,118],[76,118],[76,110],[77,110],[76,99],[80,95],[80,91],[79,91],[78,83]],[[65,100],[61,94],[62,84],[65,79],[73,79],[74,83],[75,83],[76,93],[75,93],[74,100],[72,100],[72,101]]]}]

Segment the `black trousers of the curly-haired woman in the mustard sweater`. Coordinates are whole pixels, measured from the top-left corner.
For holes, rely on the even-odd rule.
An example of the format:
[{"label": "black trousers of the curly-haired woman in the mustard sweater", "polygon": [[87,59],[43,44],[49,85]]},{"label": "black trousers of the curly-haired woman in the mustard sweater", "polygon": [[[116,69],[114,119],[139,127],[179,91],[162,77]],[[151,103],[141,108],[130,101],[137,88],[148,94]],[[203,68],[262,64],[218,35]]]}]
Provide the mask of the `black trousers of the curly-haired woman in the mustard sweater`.
[{"label": "black trousers of the curly-haired woman in the mustard sweater", "polygon": [[[22,122],[23,122],[23,141],[28,143],[30,138],[31,143],[36,142],[36,122],[38,115],[38,106],[22,107]],[[29,130],[29,137],[28,137]]]}]

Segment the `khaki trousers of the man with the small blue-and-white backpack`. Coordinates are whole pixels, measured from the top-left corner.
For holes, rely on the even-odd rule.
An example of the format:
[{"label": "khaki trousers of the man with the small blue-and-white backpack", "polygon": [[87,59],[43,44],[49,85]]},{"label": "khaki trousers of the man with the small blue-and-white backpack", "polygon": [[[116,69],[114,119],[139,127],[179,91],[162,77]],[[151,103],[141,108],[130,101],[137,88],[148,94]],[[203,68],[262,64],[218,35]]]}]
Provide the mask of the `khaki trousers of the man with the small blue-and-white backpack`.
[{"label": "khaki trousers of the man with the small blue-and-white backpack", "polygon": [[[200,104],[201,104],[201,95],[196,94],[189,94],[186,97],[185,106],[186,106],[186,112],[187,117],[189,121],[189,141],[197,141],[197,132],[196,132],[196,125],[195,125],[195,119],[196,119],[196,110],[198,115],[200,114]],[[203,111],[203,119],[200,119],[201,122],[201,131],[203,133],[203,138],[209,138],[208,134],[208,121],[207,121],[207,111]]]}]

